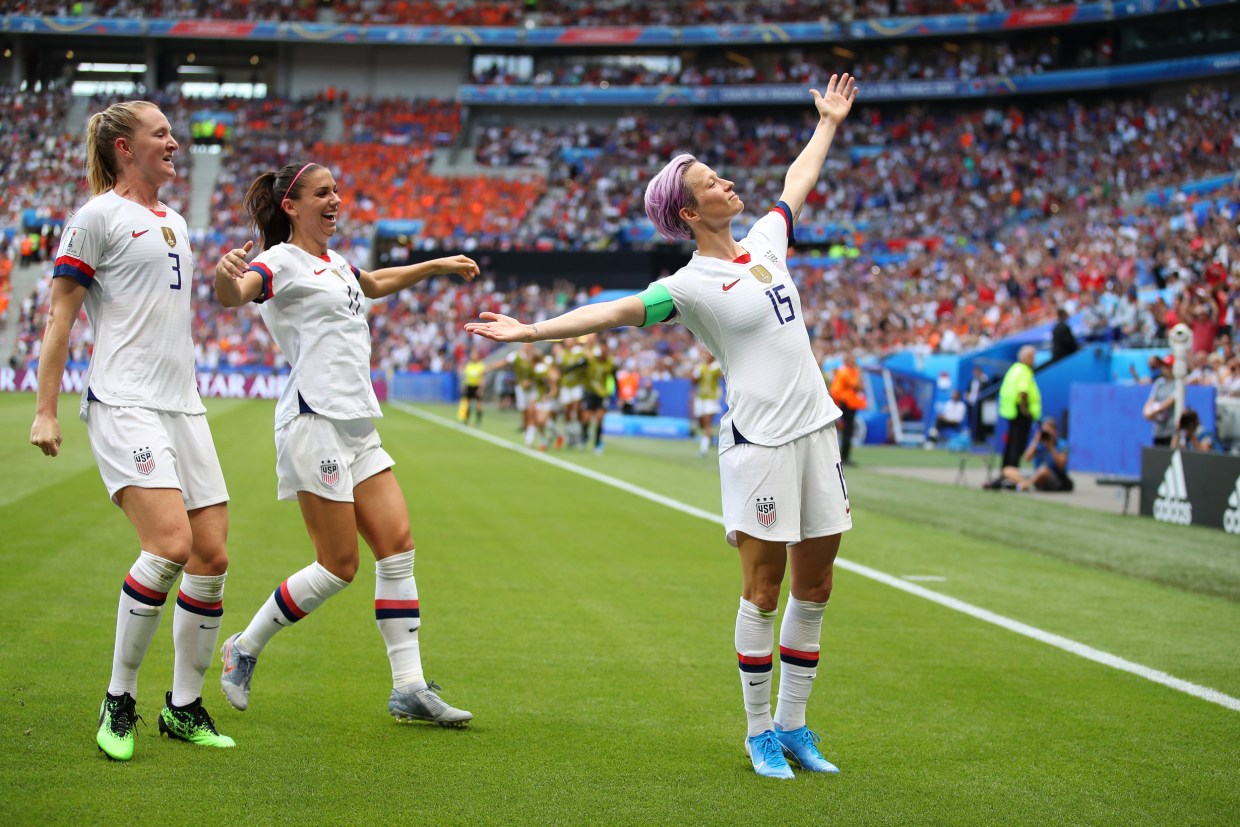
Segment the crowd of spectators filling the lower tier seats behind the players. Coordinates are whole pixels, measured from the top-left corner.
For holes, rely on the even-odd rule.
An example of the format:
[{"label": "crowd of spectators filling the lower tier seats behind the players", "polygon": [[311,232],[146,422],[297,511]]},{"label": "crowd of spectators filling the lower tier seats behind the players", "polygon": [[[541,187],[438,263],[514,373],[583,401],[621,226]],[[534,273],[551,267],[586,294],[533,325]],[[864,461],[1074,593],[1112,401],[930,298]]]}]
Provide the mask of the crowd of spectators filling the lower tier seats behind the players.
[{"label": "crowd of spectators filling the lower tier seats behind the players", "polygon": [[[11,175],[29,187],[19,203],[62,214],[78,195],[81,171],[61,159],[79,154],[68,149],[53,157],[37,139],[47,123],[63,119],[67,100],[55,93],[10,100],[20,117],[0,126],[17,138],[0,154],[6,170],[42,169],[51,182],[38,192],[25,175]],[[188,104],[162,104],[177,134],[187,135]],[[322,143],[322,100],[212,105],[231,108],[236,125],[212,196],[211,229],[195,241],[195,340],[205,366],[280,363],[252,310],[213,306],[207,278],[223,250],[249,237],[241,187],[260,169],[300,157],[343,167],[346,222],[334,247],[363,267],[373,222],[382,217],[422,222],[420,241],[396,244],[392,262],[419,248],[606,250],[626,243],[649,175],[676,148],[706,146],[702,160],[724,174],[735,170],[753,210],[776,197],[780,179],[768,167],[786,161],[807,126],[732,114],[696,129],[635,115],[554,129],[489,125],[479,134],[479,160],[523,162],[539,174],[441,179],[429,172],[430,153],[459,138],[460,113],[451,104],[346,102],[342,136],[330,144]],[[837,136],[838,154],[799,222],[802,234],[813,226],[830,229],[794,259],[816,348],[827,360],[856,348],[962,351],[1047,322],[1060,306],[1079,312],[1092,337],[1148,343],[1174,321],[1199,315],[1203,303],[1189,299],[1202,290],[1216,306],[1215,329],[1230,331],[1240,295],[1231,252],[1240,187],[1233,182],[1200,198],[1145,193],[1228,172],[1240,140],[1235,109],[1225,92],[1202,88],[1163,107],[1128,99],[1023,112],[857,113]],[[182,179],[172,198],[187,193],[188,157],[179,154]],[[174,206],[185,212],[186,201],[180,195]],[[11,212],[10,222],[16,217]],[[433,281],[373,309],[374,366],[454,369],[469,350],[460,326],[480,310],[539,319],[588,290],[521,288],[503,273],[484,273],[470,285]],[[21,361],[37,358],[45,303],[46,295],[21,301]],[[1204,341],[1205,322],[1199,326]],[[76,336],[81,357],[89,334],[78,326]],[[656,376],[692,365],[692,347],[676,329],[616,342],[621,363]],[[1233,357],[1220,357],[1219,367],[1231,371]]]}]

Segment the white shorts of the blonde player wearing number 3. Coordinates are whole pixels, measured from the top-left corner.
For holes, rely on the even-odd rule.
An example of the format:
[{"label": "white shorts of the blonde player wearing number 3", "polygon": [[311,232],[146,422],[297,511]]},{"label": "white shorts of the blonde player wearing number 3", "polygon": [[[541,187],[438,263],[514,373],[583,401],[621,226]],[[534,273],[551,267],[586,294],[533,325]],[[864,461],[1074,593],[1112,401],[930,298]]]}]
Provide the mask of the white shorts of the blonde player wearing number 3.
[{"label": "white shorts of the blonde player wearing number 3", "polygon": [[129,486],[176,489],[186,511],[228,502],[206,414],[91,402],[87,433],[113,502]]}]

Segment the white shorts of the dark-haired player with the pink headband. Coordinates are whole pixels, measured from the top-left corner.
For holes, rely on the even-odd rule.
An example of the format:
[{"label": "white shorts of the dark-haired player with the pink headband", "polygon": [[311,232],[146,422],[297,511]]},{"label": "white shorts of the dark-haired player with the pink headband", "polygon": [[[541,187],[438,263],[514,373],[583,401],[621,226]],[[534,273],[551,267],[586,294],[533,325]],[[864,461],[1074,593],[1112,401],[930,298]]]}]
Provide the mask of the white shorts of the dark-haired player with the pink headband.
[{"label": "white shorts of the dark-haired player with the pink headband", "polygon": [[393,465],[372,419],[300,414],[275,431],[280,500],[296,500],[299,491],[309,491],[324,500],[353,502],[353,486]]}]

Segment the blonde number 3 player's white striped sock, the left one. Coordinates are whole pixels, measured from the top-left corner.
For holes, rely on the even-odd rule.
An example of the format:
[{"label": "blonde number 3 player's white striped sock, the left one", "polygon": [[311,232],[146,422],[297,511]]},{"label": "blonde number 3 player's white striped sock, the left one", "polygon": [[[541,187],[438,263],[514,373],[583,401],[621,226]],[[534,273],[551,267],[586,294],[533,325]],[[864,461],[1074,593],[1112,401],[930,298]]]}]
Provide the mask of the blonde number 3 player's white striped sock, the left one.
[{"label": "blonde number 3 player's white striped sock, the left one", "polygon": [[138,697],[138,667],[146,656],[159,619],[164,614],[164,601],[176,582],[181,567],[157,554],[141,552],[129,575],[120,586],[120,606],[117,609],[117,642],[112,650],[112,678],[108,694],[125,692]]}]

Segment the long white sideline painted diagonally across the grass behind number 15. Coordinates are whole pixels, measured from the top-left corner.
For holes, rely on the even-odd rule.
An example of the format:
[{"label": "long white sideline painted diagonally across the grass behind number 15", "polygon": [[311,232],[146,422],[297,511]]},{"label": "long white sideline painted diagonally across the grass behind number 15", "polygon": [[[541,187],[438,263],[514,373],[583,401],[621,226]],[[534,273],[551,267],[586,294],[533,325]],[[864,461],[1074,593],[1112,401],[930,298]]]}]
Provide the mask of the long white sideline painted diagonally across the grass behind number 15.
[{"label": "long white sideline painted diagonally across the grass behind number 15", "polygon": [[[718,523],[719,526],[723,524],[723,517],[720,517],[719,515],[714,515],[711,513],[709,511],[703,511],[701,508],[694,508],[693,506],[678,502],[676,500],[672,500],[671,497],[665,497],[660,493],[655,493],[653,491],[647,491],[646,489],[641,489],[630,482],[625,482],[624,480],[616,480],[614,477],[606,476],[605,474],[599,474],[598,471],[591,471],[579,465],[565,462],[564,460],[557,459],[554,456],[548,456],[547,454],[543,454],[541,451],[531,450],[523,445],[510,443],[506,439],[500,439],[498,436],[492,436],[490,434],[474,430],[471,428],[461,425],[460,423],[455,423],[450,419],[444,419],[443,417],[436,417],[435,414],[430,414],[424,410],[418,410],[417,408],[413,408],[404,403],[394,402],[391,404],[397,409],[403,410],[407,414],[418,417],[419,419],[425,419],[427,422],[432,422],[436,425],[453,428],[463,434],[469,434],[470,436],[474,436],[476,439],[491,443],[492,445],[497,445],[500,448],[525,454],[531,459],[536,459],[542,462],[554,465],[556,467],[569,471],[572,474],[579,474],[596,482],[610,485],[615,489],[620,489],[621,491],[626,491],[635,496],[642,497],[644,500],[650,500],[651,502],[657,502],[661,506],[673,508],[686,515],[699,517],[702,520]],[[1185,694],[1190,694],[1194,698],[1200,698],[1202,701],[1215,703],[1220,707],[1225,707],[1234,712],[1240,712],[1240,698],[1233,698],[1231,696],[1224,694],[1218,689],[1211,689],[1209,687],[1203,687],[1200,684],[1192,683],[1182,678],[1177,678],[1174,674],[1168,674],[1167,672],[1162,672],[1159,670],[1154,670],[1148,666],[1142,666],[1141,663],[1135,663],[1117,655],[1111,655],[1110,652],[1104,652],[1100,648],[1086,646],[1085,643],[1080,643],[1069,637],[1054,635],[1052,632],[1043,631],[1037,626],[1029,626],[1028,624],[1022,624],[1019,620],[1012,620],[1011,617],[1004,617],[1003,615],[994,614],[993,611],[988,611],[986,609],[982,609],[981,606],[975,606],[970,603],[965,603],[963,600],[949,598],[947,595],[939,594],[937,591],[931,591],[930,589],[925,589],[913,583],[906,583],[905,580],[898,577],[893,577],[884,572],[879,572],[878,569],[872,569],[868,565],[862,565],[859,563],[846,560],[842,557],[836,558],[836,565],[844,569],[846,572],[859,574],[861,577],[869,578],[870,580],[875,580],[878,583],[883,583],[884,585],[889,585],[893,589],[899,589],[900,591],[906,591],[908,594],[924,598],[931,603],[937,603],[940,606],[945,606],[947,609],[952,609],[955,611],[966,614],[970,617],[976,617],[977,620],[993,624],[1002,629],[1007,629],[1008,631],[1016,632],[1017,635],[1024,635],[1025,637],[1032,637],[1035,641],[1047,643],[1049,646],[1054,646],[1055,648],[1061,648],[1065,652],[1070,652],[1071,655],[1078,655],[1080,657],[1084,657],[1085,660],[1094,661],[1095,663],[1110,666],[1111,668],[1120,670],[1121,672],[1130,672],[1147,681],[1152,681],[1164,687],[1169,687],[1172,689],[1177,689]]]}]

